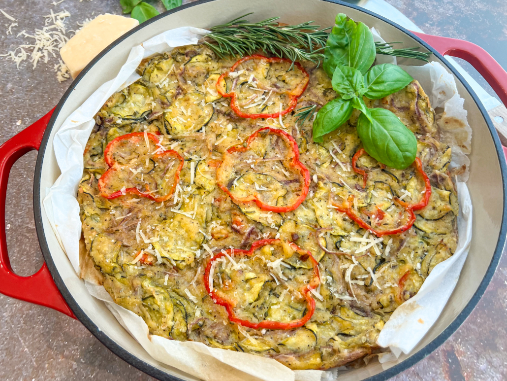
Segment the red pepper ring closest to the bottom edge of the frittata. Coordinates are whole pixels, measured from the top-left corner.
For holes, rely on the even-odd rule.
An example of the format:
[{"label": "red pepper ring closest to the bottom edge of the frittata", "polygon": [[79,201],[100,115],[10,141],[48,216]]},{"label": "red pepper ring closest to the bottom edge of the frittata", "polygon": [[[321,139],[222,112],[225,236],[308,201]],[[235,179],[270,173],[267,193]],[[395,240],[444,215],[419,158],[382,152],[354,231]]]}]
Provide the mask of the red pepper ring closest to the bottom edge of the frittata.
[{"label": "red pepper ring closest to the bottom edge of the frittata", "polygon": [[[243,256],[251,256],[253,254],[253,252],[255,252],[258,248],[260,248],[262,246],[271,245],[271,244],[280,243],[280,242],[281,241],[279,239],[263,239],[260,241],[253,242],[249,250],[228,249],[226,252],[228,255],[240,254]],[[213,290],[211,290],[210,285],[209,285],[209,275],[210,275],[210,271],[211,271],[211,265],[216,260],[225,256],[225,253],[219,252],[213,258],[211,258],[208,261],[208,264],[206,265],[206,269],[204,270],[204,287],[206,288],[208,295],[211,296],[211,299],[213,300],[213,302],[215,302],[216,304],[219,304],[221,306],[224,306],[226,308],[227,314],[229,315],[229,321],[239,324],[243,327],[248,327],[248,328],[252,328],[252,329],[266,328],[266,329],[290,330],[290,329],[298,328],[298,327],[305,325],[311,319],[313,312],[315,312],[315,300],[312,298],[310,290],[315,290],[318,287],[318,285],[320,284],[318,263],[313,258],[310,251],[301,249],[294,242],[290,242],[288,244],[291,245],[291,247],[295,251],[303,252],[305,256],[308,256],[308,258],[310,259],[310,261],[312,262],[312,265],[313,265],[313,273],[314,273],[313,278],[307,284],[304,284],[300,289],[301,294],[304,296],[304,298],[306,299],[306,302],[307,302],[307,312],[303,315],[303,317],[301,317],[301,319],[292,320],[292,321],[286,322],[286,323],[276,322],[276,321],[272,321],[272,320],[263,320],[259,323],[252,323],[248,320],[239,319],[236,316],[236,314],[234,313],[235,304],[231,300],[228,300],[228,299],[225,299],[225,298],[222,298],[221,296],[219,296],[215,292],[216,289],[213,288]]]}]

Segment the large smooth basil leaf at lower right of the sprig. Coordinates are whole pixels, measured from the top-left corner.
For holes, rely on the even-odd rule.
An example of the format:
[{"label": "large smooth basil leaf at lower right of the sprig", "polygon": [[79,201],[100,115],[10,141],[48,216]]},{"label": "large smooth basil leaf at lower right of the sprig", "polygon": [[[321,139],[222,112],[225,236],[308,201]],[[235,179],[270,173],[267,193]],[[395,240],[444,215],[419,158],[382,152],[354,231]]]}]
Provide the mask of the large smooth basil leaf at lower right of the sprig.
[{"label": "large smooth basil leaf at lower right of the sprig", "polygon": [[405,169],[417,154],[417,140],[408,128],[389,110],[370,109],[357,120],[357,134],[366,152],[386,166]]}]

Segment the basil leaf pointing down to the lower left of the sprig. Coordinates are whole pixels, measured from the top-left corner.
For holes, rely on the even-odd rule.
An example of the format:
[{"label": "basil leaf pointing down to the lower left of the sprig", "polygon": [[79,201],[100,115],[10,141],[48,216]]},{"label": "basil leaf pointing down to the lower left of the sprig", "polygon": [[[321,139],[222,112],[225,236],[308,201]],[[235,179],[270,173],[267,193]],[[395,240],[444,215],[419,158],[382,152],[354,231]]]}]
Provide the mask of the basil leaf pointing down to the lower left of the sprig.
[{"label": "basil leaf pointing down to the lower left of the sprig", "polygon": [[352,104],[341,98],[336,98],[322,107],[313,121],[313,140],[322,143],[325,134],[339,128],[352,114]]}]

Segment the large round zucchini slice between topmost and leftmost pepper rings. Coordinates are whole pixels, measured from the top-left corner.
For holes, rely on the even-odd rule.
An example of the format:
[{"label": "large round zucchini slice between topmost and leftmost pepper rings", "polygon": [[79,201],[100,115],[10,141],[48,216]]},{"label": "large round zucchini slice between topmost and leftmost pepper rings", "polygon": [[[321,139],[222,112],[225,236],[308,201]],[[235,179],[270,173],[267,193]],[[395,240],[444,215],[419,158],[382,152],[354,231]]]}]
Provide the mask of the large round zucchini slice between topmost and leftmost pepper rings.
[{"label": "large round zucchini slice between topmost and leftmost pepper rings", "polygon": [[206,104],[198,92],[189,93],[176,100],[164,112],[166,129],[169,135],[184,135],[201,130],[213,117],[212,104]]}]

